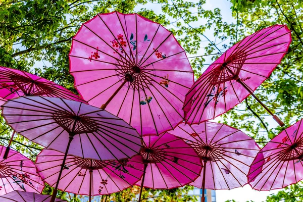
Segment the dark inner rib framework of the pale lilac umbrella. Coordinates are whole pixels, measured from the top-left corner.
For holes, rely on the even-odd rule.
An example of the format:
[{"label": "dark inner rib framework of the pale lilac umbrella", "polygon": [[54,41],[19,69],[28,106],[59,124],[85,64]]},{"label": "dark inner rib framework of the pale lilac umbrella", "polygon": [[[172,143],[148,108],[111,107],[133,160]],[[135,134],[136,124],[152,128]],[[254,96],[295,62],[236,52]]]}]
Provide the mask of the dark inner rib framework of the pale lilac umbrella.
[{"label": "dark inner rib framework of the pale lilac umbrella", "polygon": [[70,134],[92,133],[98,130],[98,125],[93,119],[67,111],[56,111],[53,119]]}]

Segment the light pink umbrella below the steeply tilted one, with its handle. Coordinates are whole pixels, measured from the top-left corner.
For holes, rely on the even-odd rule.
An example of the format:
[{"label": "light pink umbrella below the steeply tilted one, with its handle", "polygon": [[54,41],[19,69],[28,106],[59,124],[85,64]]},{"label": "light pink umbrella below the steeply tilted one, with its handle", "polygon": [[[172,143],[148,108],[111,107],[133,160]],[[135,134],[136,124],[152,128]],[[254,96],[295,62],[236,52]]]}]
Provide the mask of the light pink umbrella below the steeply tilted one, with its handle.
[{"label": "light pink umbrella below the steeply tilted one, with its handle", "polygon": [[187,140],[204,162],[203,173],[190,183],[203,189],[201,201],[205,200],[205,189],[233,189],[247,184],[249,166],[260,150],[254,139],[240,130],[213,122],[180,124],[168,133]]}]

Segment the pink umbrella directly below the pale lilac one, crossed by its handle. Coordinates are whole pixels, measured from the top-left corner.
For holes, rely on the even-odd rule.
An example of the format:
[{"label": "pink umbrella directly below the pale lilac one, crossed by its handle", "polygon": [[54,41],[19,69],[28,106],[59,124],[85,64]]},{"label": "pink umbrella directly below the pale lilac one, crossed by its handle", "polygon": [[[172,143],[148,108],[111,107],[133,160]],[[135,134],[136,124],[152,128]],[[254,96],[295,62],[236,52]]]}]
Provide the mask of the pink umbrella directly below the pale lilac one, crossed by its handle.
[{"label": "pink umbrella directly below the pale lilac one, crossed by its handle", "polygon": [[[64,154],[51,149],[43,149],[37,156],[35,165],[41,178],[51,186],[57,183]],[[90,196],[111,194],[129,188],[143,175],[140,155],[119,161],[96,161],[67,156],[61,183],[62,191]]]}]

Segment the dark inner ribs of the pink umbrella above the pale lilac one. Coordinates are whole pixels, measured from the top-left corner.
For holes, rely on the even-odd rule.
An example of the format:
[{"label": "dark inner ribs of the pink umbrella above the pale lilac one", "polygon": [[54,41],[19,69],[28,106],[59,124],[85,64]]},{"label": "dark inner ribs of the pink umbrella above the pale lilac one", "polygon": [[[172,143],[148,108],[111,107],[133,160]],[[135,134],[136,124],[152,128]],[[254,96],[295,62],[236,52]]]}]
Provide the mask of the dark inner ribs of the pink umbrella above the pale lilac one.
[{"label": "dark inner ribs of the pink umbrella above the pale lilac one", "polygon": [[25,76],[14,75],[11,77],[14,85],[10,85],[11,91],[22,91],[25,95],[48,95],[53,89],[46,84],[35,81]]}]

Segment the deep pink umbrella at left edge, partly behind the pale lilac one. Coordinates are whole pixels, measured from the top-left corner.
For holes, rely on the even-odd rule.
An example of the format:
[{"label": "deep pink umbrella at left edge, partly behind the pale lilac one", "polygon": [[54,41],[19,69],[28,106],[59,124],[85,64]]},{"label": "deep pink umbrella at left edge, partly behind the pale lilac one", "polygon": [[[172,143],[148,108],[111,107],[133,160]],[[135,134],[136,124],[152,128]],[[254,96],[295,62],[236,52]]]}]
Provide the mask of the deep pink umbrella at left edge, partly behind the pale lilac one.
[{"label": "deep pink umbrella at left edge, partly behind the pale lilac one", "polygon": [[[23,95],[62,97],[85,102],[82,97],[57,83],[28,72],[0,66],[0,104],[3,105],[8,99]],[[7,158],[14,135],[15,132],[12,134],[4,159]]]}]

